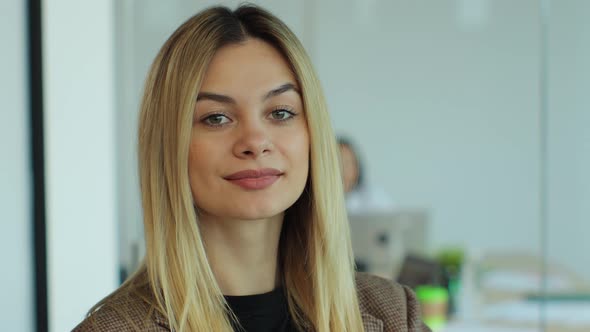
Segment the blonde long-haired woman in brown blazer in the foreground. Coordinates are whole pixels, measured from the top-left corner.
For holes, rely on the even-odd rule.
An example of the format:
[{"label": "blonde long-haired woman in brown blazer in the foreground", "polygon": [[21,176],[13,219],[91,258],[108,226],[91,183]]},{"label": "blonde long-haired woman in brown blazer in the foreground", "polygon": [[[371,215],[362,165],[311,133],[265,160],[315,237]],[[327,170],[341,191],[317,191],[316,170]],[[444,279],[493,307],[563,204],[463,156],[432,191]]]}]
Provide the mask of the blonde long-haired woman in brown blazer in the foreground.
[{"label": "blonde long-haired woman in brown blazer in the foreground", "polygon": [[353,268],[338,150],[295,35],[253,6],[164,44],[139,126],[146,257],[75,331],[422,331]]}]

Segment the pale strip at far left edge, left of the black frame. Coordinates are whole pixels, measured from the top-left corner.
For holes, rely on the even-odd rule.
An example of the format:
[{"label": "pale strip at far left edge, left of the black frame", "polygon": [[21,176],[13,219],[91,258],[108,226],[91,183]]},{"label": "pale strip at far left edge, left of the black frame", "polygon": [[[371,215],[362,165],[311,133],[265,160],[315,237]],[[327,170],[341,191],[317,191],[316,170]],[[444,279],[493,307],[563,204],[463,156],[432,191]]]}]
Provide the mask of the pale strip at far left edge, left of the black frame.
[{"label": "pale strip at far left edge, left of the black frame", "polygon": [[0,13],[0,322],[2,330],[32,332],[35,307],[25,3],[1,1]]}]

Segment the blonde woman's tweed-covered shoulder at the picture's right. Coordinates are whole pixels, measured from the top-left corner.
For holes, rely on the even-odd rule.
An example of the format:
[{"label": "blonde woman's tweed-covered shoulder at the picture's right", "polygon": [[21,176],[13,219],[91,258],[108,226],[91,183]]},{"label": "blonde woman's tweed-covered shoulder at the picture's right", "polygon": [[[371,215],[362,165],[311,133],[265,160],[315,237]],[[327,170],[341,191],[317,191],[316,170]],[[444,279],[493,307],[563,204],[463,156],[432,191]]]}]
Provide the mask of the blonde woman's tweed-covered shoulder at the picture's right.
[{"label": "blonde woman's tweed-covered shoulder at the picture's right", "polygon": [[384,331],[430,331],[409,287],[361,272],[356,274],[356,286],[361,314],[383,321]]}]

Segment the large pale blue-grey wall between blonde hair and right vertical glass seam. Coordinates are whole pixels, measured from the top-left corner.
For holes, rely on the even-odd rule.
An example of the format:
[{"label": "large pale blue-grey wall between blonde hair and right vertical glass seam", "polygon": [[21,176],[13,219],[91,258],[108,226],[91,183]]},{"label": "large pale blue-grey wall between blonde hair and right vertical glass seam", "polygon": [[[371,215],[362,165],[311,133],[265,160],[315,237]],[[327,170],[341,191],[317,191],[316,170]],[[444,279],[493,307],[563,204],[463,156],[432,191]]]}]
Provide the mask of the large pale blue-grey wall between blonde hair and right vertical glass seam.
[{"label": "large pale blue-grey wall between blonde hair and right vertical glass seam", "polygon": [[523,1],[317,4],[335,127],[433,248],[539,251],[539,7]]}]

